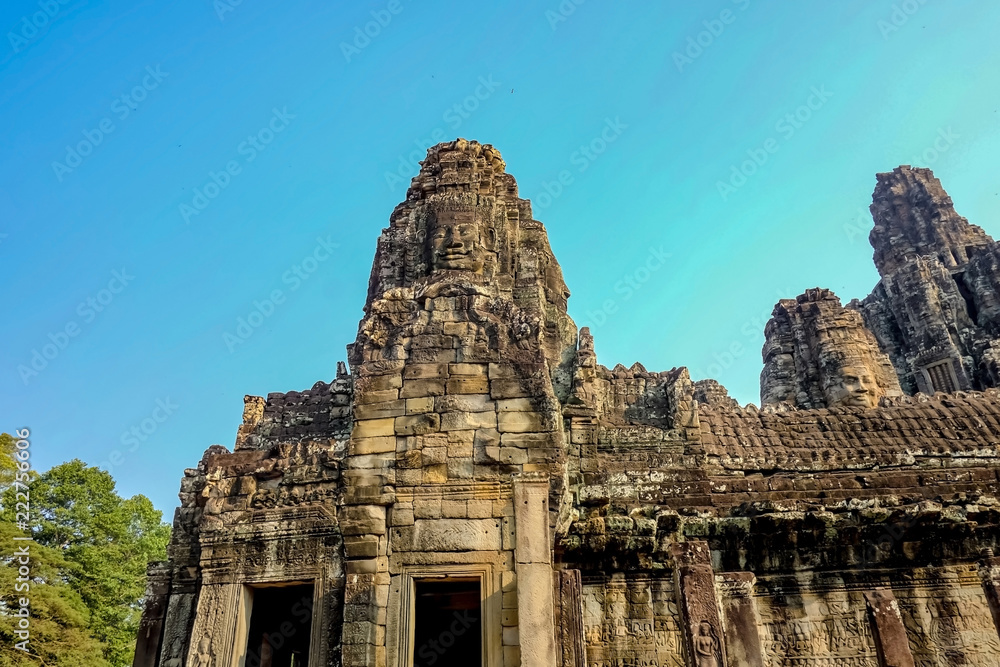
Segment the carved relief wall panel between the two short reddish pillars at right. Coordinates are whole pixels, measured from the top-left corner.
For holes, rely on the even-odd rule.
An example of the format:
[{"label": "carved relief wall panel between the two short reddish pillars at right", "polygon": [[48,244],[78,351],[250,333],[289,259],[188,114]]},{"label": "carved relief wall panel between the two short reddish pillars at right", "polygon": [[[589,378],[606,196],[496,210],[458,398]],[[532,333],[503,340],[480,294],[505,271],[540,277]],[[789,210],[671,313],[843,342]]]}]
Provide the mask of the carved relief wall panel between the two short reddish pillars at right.
[{"label": "carved relief wall panel between the two short reddish pillars at right", "polygon": [[860,591],[757,598],[770,667],[879,667]]}]

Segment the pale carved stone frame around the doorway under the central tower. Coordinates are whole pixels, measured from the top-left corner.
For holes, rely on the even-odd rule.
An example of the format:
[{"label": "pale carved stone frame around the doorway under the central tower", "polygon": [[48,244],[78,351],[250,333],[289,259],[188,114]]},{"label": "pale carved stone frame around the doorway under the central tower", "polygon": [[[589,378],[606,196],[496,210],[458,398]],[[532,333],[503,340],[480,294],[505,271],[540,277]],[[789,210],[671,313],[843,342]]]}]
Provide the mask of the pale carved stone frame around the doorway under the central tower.
[{"label": "pale carved stone frame around the doorway under the central tower", "polygon": [[[441,565],[409,565],[403,566],[398,577],[398,588],[393,586],[391,597],[398,600],[390,609],[398,609],[396,631],[391,633],[395,639],[397,667],[413,667],[414,614],[416,607],[416,585],[418,581],[466,581],[479,583],[479,600],[481,610],[481,646],[483,667],[501,667],[503,664],[503,648],[499,633],[494,630],[500,627],[501,588],[498,581],[499,573],[492,563],[441,564]],[[391,621],[390,621],[391,623]]]}]

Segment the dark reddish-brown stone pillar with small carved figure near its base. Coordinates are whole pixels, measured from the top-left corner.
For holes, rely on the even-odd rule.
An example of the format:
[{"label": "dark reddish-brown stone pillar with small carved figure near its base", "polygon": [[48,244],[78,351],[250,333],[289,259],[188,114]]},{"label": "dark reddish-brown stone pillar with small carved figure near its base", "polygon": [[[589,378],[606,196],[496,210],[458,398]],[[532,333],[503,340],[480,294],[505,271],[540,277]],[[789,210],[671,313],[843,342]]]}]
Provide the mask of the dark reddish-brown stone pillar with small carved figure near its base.
[{"label": "dark reddish-brown stone pillar with small carved figure near its base", "polygon": [[690,667],[726,667],[725,634],[715,597],[715,573],[708,542],[672,544],[670,555],[674,560],[687,663]]}]

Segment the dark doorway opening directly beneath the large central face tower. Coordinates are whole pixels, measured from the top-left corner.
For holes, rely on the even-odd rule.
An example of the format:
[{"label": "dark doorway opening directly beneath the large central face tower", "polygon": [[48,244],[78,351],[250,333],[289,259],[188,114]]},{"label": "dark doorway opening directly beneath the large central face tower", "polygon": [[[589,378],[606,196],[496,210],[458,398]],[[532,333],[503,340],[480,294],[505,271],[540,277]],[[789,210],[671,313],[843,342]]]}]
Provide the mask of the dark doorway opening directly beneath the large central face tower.
[{"label": "dark doorway opening directly beneath the large central face tower", "polygon": [[482,595],[479,580],[416,581],[414,667],[482,664]]}]

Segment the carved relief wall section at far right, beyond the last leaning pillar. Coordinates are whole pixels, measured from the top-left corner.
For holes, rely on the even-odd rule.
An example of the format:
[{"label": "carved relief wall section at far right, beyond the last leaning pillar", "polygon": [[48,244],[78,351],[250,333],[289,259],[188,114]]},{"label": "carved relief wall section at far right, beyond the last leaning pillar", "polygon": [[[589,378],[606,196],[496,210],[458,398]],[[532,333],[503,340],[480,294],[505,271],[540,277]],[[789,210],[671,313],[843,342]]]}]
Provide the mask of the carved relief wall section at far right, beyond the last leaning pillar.
[{"label": "carved relief wall section at far right, beyond the last leaning pillar", "polygon": [[894,591],[917,667],[1000,665],[1000,637],[977,584]]}]

